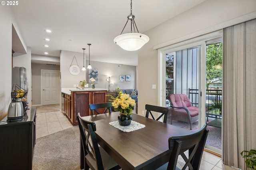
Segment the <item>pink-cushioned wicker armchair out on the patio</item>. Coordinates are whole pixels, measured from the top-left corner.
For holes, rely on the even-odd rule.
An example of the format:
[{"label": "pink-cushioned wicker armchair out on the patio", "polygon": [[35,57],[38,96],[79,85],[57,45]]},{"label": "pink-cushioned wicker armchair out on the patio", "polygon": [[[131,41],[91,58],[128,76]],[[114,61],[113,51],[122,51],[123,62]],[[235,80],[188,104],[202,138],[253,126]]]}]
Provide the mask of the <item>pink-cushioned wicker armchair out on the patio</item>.
[{"label": "pink-cushioned wicker armchair out on the patio", "polygon": [[191,103],[185,94],[170,94],[168,100],[171,103],[168,114],[171,124],[173,120],[190,123],[192,130],[192,123],[198,120],[198,103]]}]

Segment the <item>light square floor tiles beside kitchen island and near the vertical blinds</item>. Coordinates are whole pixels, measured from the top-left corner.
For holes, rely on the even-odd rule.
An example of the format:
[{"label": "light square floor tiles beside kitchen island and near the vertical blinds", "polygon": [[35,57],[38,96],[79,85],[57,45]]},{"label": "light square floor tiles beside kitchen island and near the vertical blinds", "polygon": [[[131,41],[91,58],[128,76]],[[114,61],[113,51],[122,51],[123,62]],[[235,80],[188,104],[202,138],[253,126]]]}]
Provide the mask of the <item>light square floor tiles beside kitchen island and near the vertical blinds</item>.
[{"label": "light square floor tiles beside kitchen island and near the vertical blinds", "polygon": [[[70,128],[73,125],[61,111],[37,113],[36,138]],[[222,164],[221,157],[210,152],[203,152],[200,170],[236,170]]]}]

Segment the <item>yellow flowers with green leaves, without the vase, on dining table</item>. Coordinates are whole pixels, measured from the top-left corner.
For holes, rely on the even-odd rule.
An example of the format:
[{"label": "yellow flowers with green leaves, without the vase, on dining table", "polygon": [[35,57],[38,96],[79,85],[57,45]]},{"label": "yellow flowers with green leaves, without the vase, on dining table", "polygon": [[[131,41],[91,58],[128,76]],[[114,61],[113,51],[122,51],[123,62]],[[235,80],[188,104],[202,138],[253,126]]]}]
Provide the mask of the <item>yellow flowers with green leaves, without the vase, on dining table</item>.
[{"label": "yellow flowers with green leaves, without the vase, on dining table", "polygon": [[127,115],[131,115],[132,106],[135,105],[135,100],[130,97],[130,95],[126,93],[122,93],[122,91],[118,91],[116,89],[118,96],[114,98],[112,95],[110,101],[112,101],[112,106],[114,107],[114,111],[120,111],[120,113],[125,113]]}]

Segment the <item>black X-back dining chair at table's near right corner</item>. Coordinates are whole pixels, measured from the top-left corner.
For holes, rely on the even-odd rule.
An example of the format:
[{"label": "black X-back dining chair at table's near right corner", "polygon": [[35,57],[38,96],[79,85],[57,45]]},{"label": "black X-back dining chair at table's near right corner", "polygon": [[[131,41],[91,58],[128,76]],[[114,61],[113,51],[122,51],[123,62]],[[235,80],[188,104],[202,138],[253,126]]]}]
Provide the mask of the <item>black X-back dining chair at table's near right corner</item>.
[{"label": "black X-back dining chair at table's near right corner", "polygon": [[[204,145],[208,136],[209,130],[204,125],[200,130],[192,134],[184,136],[170,136],[169,149],[172,150],[169,162],[158,168],[157,170],[179,170],[176,167],[178,156],[181,155],[186,162],[183,169],[188,167],[190,170],[199,170]],[[188,150],[188,157],[184,154]]]}]

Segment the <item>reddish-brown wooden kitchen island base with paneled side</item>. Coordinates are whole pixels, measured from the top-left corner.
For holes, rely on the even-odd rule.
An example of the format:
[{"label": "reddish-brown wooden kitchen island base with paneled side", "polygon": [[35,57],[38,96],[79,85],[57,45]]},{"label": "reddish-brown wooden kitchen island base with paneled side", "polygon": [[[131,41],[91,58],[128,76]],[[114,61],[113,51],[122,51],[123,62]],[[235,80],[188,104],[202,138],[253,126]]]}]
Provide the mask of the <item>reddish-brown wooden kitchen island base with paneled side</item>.
[{"label": "reddish-brown wooden kitchen island base with paneled side", "polygon": [[68,117],[70,122],[73,125],[78,125],[76,118],[78,113],[80,113],[81,116],[90,115],[89,105],[92,103],[105,103],[107,101],[106,95],[107,91],[72,91],[70,99],[70,117]]}]

